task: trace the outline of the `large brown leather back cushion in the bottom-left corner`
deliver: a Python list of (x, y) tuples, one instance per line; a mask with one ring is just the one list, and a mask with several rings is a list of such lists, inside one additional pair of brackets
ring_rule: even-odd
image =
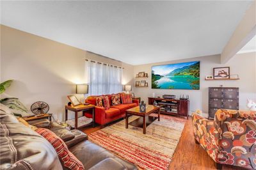
[(0, 120), (0, 169), (62, 169), (56, 151), (44, 137), (12, 114), (0, 111)]

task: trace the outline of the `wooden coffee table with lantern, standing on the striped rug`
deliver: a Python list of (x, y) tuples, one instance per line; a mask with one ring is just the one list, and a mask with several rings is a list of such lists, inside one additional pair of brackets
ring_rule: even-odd
[(141, 118), (138, 118), (132, 121), (131, 123), (129, 123), (129, 125), (143, 128), (143, 134), (146, 134), (146, 127), (150, 125), (154, 120), (157, 119), (154, 116), (149, 116), (149, 114), (157, 112), (158, 121), (160, 121), (160, 108), (161, 108), (160, 106), (147, 105), (146, 112), (140, 112), (140, 106), (136, 106), (126, 110), (125, 111), (125, 128), (128, 128), (128, 117), (130, 115), (140, 116)]

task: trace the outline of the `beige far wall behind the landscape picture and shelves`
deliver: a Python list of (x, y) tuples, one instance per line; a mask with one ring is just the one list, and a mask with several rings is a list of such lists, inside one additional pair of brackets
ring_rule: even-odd
[[(170, 63), (181, 63), (188, 61), (200, 61), (200, 90), (185, 90), (185, 89), (151, 89), (151, 67), (154, 65), (165, 65)], [(142, 100), (147, 101), (147, 97), (152, 97), (152, 93), (156, 96), (164, 94), (176, 95), (189, 95), (190, 98), (190, 111), (195, 109), (202, 109), (208, 112), (208, 87), (230, 86), (239, 87), (240, 89), (240, 108), (246, 109), (246, 99), (254, 98), (256, 100), (256, 53), (238, 54), (230, 59), (225, 65), (220, 64), (220, 55), (204, 56), (200, 58), (182, 59), (177, 61), (168, 61), (161, 63), (152, 63), (148, 65), (134, 66), (134, 77), (138, 72), (146, 72), (149, 77), (146, 79), (148, 88), (134, 88), (134, 93)], [(230, 74), (238, 74), (239, 81), (205, 81), (205, 75), (212, 75), (212, 68), (220, 66), (230, 66)], [(137, 80), (137, 79), (135, 79)], [(143, 80), (143, 79), (138, 79)], [(133, 84), (134, 86), (134, 84)]]

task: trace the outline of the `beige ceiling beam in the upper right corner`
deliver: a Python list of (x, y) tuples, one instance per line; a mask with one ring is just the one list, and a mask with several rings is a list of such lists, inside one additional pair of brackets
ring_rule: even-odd
[(256, 34), (256, 1), (244, 14), (236, 30), (221, 53), (221, 63), (226, 63), (230, 58), (248, 43)]

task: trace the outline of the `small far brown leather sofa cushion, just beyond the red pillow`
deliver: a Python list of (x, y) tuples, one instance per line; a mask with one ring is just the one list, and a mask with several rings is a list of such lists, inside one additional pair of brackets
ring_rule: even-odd
[(56, 122), (52, 122), (52, 127), (50, 129), (54, 134), (58, 135), (64, 142), (69, 141), (75, 137), (70, 130), (67, 130), (66, 128), (62, 127)]

